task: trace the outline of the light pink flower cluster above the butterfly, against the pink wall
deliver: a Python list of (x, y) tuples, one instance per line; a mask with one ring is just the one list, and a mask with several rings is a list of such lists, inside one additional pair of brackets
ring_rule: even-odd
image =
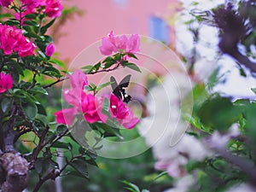
[(114, 36), (111, 31), (108, 38), (102, 38), (100, 50), (102, 55), (112, 55), (113, 52), (136, 53), (139, 47), (140, 38), (137, 34), (132, 34), (130, 38), (127, 38), (125, 35)]

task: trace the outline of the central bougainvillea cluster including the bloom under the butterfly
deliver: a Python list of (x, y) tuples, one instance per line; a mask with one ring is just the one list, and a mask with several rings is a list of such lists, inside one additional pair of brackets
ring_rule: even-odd
[[(71, 90), (64, 89), (63, 96), (67, 103), (73, 105), (73, 108), (62, 109), (55, 112), (56, 121), (59, 124), (73, 125), (75, 115), (82, 113), (84, 119), (89, 123), (102, 121), (106, 123), (108, 115), (102, 113), (102, 103), (104, 98), (97, 98), (92, 94), (84, 92), (84, 86), (88, 85), (87, 76), (77, 70), (73, 75), (69, 75)], [(127, 129), (133, 128), (139, 122), (139, 119), (133, 115), (131, 109), (123, 101), (119, 101), (117, 96), (110, 95), (110, 115), (116, 119), (119, 125)]]

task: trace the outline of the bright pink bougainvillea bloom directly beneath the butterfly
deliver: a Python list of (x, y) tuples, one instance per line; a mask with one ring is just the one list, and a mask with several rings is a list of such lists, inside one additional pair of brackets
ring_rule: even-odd
[(131, 111), (131, 108), (117, 96), (110, 95), (110, 115), (112, 118), (117, 119), (120, 125), (126, 129), (132, 129), (140, 121)]

